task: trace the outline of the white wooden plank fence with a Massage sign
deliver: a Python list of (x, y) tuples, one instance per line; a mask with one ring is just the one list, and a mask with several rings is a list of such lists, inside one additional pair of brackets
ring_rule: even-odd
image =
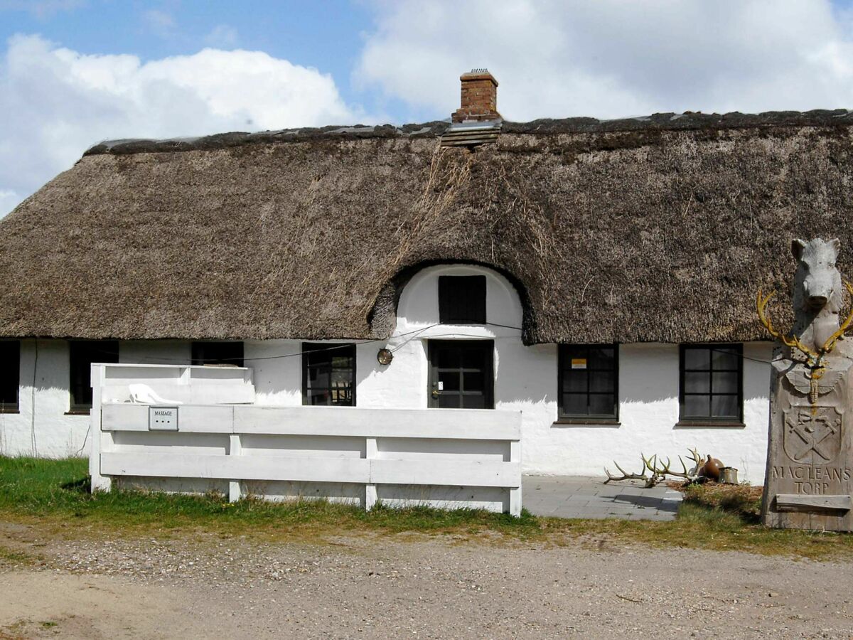
[[(251, 369), (95, 364), (92, 380), (93, 490), (116, 479), (221, 486), (232, 501), (316, 495), (367, 509), (381, 500), (521, 512), (519, 412), (233, 404), (252, 403)], [(192, 400), (171, 405), (176, 428), (126, 401), (134, 383)]]

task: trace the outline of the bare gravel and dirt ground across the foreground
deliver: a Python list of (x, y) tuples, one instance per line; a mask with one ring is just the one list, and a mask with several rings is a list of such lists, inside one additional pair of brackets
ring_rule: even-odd
[[(40, 538), (0, 524), (0, 638), (853, 637), (853, 563), (588, 540)], [(7, 554), (8, 555), (8, 554)]]

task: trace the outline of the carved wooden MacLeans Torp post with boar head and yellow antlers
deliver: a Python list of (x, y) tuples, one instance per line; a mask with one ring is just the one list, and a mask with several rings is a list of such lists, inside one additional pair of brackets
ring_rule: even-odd
[(838, 240), (795, 240), (794, 325), (776, 330), (757, 297), (758, 317), (777, 340), (771, 367), (770, 426), (762, 521), (769, 527), (853, 531), (850, 404), (853, 340), (840, 321), (844, 288)]

